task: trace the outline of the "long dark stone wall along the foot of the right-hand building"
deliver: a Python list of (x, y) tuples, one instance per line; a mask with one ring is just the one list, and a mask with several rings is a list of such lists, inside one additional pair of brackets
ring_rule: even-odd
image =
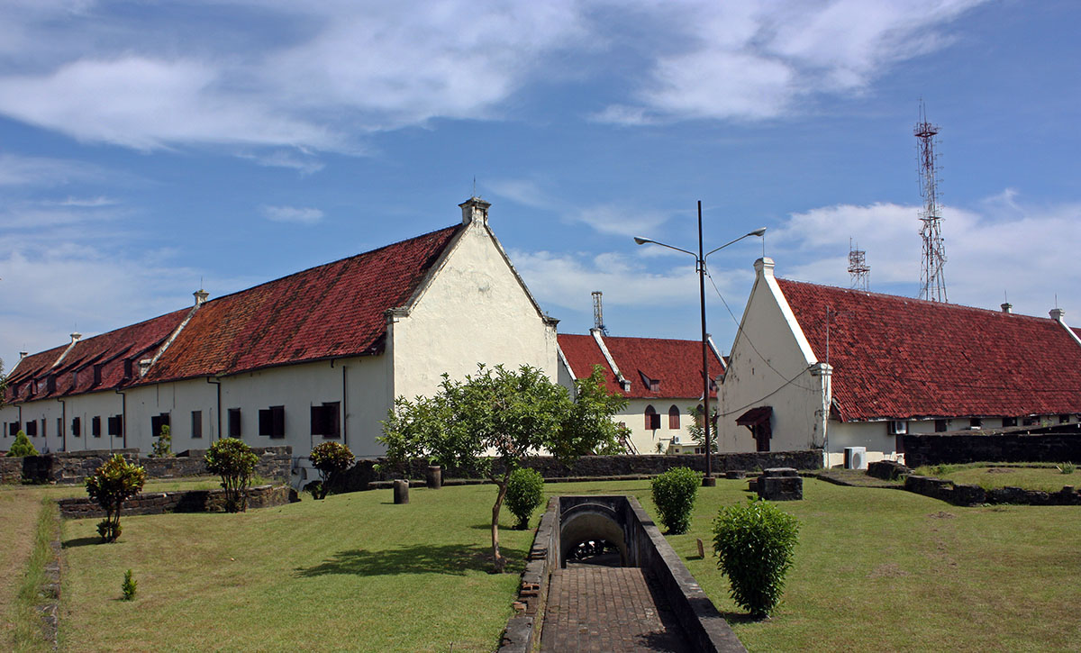
[(905, 463), (909, 467), (953, 463), (1081, 462), (1081, 434), (1042, 435), (908, 435)]

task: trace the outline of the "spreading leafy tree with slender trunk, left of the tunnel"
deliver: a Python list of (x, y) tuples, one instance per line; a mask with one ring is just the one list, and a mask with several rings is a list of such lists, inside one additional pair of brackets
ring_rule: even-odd
[(620, 427), (612, 415), (626, 400), (604, 390), (599, 368), (575, 382), (575, 395), (572, 401), (566, 388), (530, 365), (515, 372), (479, 364), (465, 381), (443, 374), (429, 398), (395, 400), (379, 442), (391, 464), (428, 458), (444, 468), (478, 469), (495, 483), (492, 559), (501, 572), (507, 561), (499, 554), (499, 510), (513, 470), (543, 450), (570, 462), (618, 447)]

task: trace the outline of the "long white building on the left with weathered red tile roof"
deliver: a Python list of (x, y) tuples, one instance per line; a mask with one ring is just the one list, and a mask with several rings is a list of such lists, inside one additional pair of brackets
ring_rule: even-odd
[[(25, 356), (0, 410), (39, 451), (138, 448), (162, 424), (173, 450), (223, 436), (290, 444), (298, 467), (337, 440), (376, 456), (395, 397), (430, 395), (444, 372), (530, 364), (557, 375), (545, 316), (489, 227), (462, 222), (146, 322)], [(303, 471), (295, 470), (297, 482)]]

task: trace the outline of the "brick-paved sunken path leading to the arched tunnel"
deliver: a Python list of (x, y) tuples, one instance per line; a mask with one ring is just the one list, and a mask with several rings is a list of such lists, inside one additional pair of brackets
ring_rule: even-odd
[(690, 651), (660, 592), (651, 590), (654, 585), (635, 568), (578, 564), (556, 570), (540, 650)]

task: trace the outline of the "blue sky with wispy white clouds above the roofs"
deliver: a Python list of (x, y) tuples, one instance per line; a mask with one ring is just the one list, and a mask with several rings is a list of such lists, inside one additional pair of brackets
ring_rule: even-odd
[[(955, 303), (1081, 324), (1081, 6), (1052, 0), (0, 4), (0, 358), (459, 219), (563, 332), (697, 337), (693, 261), (919, 292), (919, 102)], [(722, 349), (763, 244), (710, 258)], [(1057, 297), (1057, 298), (1056, 298)]]

